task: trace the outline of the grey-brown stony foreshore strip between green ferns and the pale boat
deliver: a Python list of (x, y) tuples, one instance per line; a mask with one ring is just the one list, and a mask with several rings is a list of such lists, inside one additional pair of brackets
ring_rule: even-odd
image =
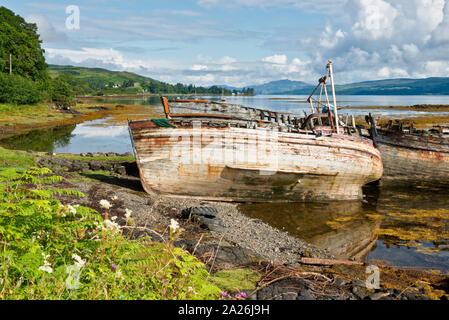
[[(237, 204), (153, 196), (141, 187), (136, 164), (129, 154), (62, 155), (33, 153), (39, 166), (64, 176), (67, 188), (86, 194), (67, 197), (65, 203), (100, 211), (99, 201), (109, 200), (112, 215), (121, 221), (132, 210), (136, 226), (125, 229), (130, 237), (150, 235), (165, 241), (171, 219), (184, 229), (176, 245), (196, 255), (211, 272), (251, 268), (260, 274), (253, 300), (447, 300), (449, 276), (437, 272), (378, 266), (379, 285), (368, 289), (367, 266), (303, 264), (304, 257), (330, 259), (326, 250), (243, 215)], [(189, 208), (213, 208), (189, 211)], [(324, 260), (323, 260), (324, 261)]]

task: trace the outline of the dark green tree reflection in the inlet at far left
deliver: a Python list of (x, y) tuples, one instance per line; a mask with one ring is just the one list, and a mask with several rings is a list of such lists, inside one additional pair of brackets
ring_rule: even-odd
[(70, 144), (74, 137), (75, 125), (32, 130), (26, 134), (0, 140), (0, 145), (8, 149), (53, 152)]

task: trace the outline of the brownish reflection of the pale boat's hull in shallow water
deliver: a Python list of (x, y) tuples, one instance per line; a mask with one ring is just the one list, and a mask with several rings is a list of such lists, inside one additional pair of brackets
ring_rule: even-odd
[(380, 219), (362, 202), (250, 204), (240, 209), (289, 234), (327, 249), (337, 258), (363, 260), (377, 241)]

